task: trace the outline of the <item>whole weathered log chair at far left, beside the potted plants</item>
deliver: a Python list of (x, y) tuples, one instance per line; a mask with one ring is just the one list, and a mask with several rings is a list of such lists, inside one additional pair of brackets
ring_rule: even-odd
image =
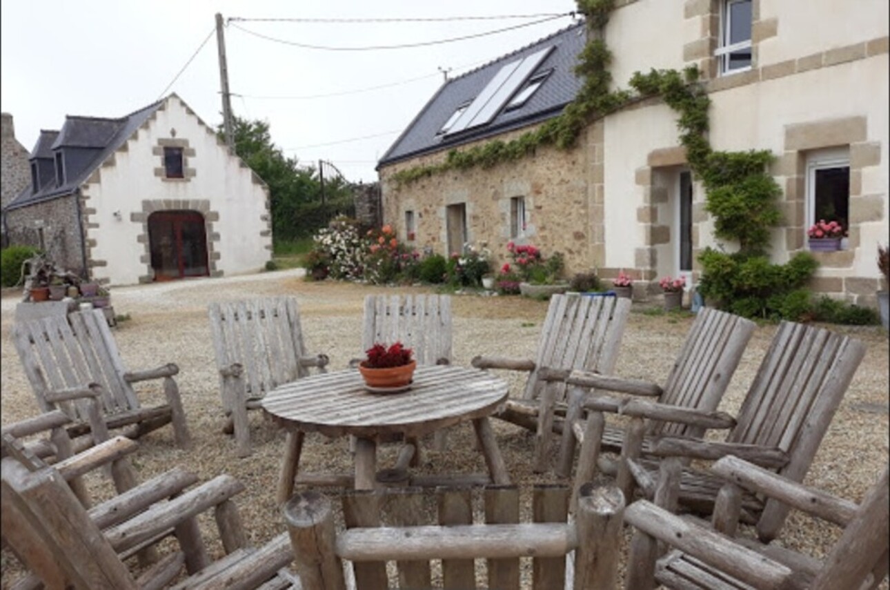
[[(101, 422), (109, 430), (126, 428), (138, 438), (165, 424), (172, 424), (174, 440), (181, 449), (191, 448), (185, 412), (174, 376), (179, 368), (167, 363), (159, 368), (127, 371), (117, 351), (108, 322), (101, 310), (77, 311), (63, 316), (17, 321), (12, 341), (41, 411), (61, 409), (75, 424), (69, 434), (89, 432), (96, 422), (91, 400), (99, 402)], [(166, 404), (142, 408), (133, 385), (161, 379)]]

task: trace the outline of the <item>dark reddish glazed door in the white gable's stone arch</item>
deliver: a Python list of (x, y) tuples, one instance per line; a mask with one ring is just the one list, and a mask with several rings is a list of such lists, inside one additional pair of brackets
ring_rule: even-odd
[(149, 247), (155, 280), (206, 277), (207, 238), (197, 211), (158, 211), (149, 215)]

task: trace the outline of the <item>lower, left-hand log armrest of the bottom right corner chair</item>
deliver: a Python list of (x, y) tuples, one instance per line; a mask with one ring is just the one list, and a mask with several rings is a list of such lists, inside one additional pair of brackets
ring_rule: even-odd
[(713, 529), (685, 521), (648, 500), (627, 506), (624, 520), (685, 554), (756, 588), (781, 588), (792, 571)]

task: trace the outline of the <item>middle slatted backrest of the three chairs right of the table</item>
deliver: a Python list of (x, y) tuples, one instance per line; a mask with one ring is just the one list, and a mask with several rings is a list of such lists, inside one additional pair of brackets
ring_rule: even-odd
[[(754, 322), (740, 316), (702, 309), (667, 376), (659, 402), (681, 408), (716, 410), (754, 334), (754, 327)], [(679, 423), (649, 424), (651, 435), (700, 437), (704, 430)]]

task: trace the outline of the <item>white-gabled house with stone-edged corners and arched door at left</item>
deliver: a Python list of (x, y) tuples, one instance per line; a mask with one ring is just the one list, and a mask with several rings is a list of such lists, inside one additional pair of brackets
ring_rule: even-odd
[(125, 117), (66, 117), (41, 131), (29, 165), (4, 200), (9, 241), (69, 271), (132, 285), (271, 259), (268, 189), (176, 94)]

